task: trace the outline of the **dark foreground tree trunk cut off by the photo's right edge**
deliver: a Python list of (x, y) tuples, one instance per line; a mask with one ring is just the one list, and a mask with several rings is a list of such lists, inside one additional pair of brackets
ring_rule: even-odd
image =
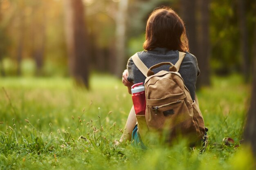
[(252, 99), (248, 111), (245, 125), (244, 137), (247, 144), (251, 144), (254, 156), (256, 157), (256, 24), (254, 26), (254, 46), (253, 46), (253, 73), (252, 73)]

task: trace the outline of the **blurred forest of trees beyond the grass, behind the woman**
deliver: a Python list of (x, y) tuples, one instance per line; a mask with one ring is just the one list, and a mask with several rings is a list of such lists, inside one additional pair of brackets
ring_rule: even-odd
[[(184, 20), (190, 52), (198, 58), (202, 74), (206, 74), (202, 79), (210, 74), (244, 73), (247, 81), (251, 73), (256, 30), (254, 0), (0, 3), (1, 77), (86, 75), (95, 71), (120, 77), (128, 58), (143, 50), (148, 15), (161, 6), (173, 8)], [(72, 49), (67, 48), (70, 46)], [(78, 53), (85, 62), (75, 62)], [(85, 71), (74, 73), (74, 67)]]

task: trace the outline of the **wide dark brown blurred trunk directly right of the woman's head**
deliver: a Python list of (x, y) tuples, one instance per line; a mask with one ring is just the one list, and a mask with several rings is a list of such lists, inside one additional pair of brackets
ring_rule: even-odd
[(189, 38), (190, 53), (198, 59), (197, 88), (210, 84), (209, 0), (181, 0), (182, 19)]

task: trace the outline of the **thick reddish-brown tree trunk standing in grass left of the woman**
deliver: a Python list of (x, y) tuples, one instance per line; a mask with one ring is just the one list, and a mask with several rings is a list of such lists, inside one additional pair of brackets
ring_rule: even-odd
[(82, 0), (65, 0), (67, 51), (71, 75), (88, 88), (88, 33)]

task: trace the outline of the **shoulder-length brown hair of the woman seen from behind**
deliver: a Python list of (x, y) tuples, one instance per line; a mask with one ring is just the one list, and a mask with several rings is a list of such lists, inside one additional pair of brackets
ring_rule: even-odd
[(155, 9), (146, 26), (145, 50), (163, 47), (169, 50), (189, 51), (184, 22), (175, 11), (168, 7)]

